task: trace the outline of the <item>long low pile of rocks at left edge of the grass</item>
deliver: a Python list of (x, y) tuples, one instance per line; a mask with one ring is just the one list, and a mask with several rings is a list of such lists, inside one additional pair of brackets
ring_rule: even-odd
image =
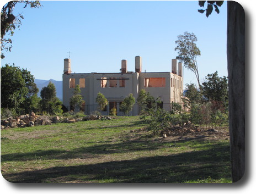
[(9, 128), (25, 128), (26, 126), (38, 126), (38, 125), (51, 125), (52, 123), (76, 123), (78, 121), (87, 121), (87, 120), (111, 120), (110, 117), (103, 117), (100, 115), (88, 115), (86, 117), (80, 118), (60, 118), (56, 117), (47, 117), (36, 115), (34, 112), (31, 114), (20, 115), (19, 117), (1, 120), (1, 130)]

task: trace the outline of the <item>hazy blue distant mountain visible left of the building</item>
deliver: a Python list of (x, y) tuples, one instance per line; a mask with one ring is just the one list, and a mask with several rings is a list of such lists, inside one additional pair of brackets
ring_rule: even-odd
[(38, 80), (35, 79), (35, 84), (39, 88), (38, 96), (40, 97), (40, 92), (43, 87), (46, 87), (49, 82), (52, 82), (52, 84), (56, 87), (56, 96), (62, 101), (62, 81), (56, 81), (56, 80)]

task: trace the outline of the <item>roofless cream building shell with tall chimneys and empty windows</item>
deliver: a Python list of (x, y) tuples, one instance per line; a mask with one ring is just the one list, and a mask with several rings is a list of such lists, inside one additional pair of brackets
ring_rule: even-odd
[[(91, 114), (97, 110), (95, 99), (99, 92), (108, 99), (109, 106), (102, 112), (109, 114), (112, 108), (116, 108), (117, 114), (122, 115), (119, 105), (130, 93), (137, 98), (138, 92), (142, 89), (161, 99), (159, 104), (163, 109), (170, 110), (171, 103), (182, 103), (183, 95), (183, 67), (177, 59), (172, 59), (172, 72), (151, 72), (143, 73), (142, 59), (135, 57), (135, 72), (127, 72), (126, 60), (121, 61), (120, 73), (72, 73), (71, 60), (64, 59), (63, 80), (63, 104), (70, 107), (70, 98), (76, 85), (81, 89), (84, 101), (82, 110), (86, 114)], [(138, 106), (135, 104), (130, 115), (138, 115)]]

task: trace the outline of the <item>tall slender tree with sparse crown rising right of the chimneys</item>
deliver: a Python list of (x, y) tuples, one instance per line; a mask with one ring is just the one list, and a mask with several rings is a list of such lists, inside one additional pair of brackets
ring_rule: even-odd
[(175, 51), (178, 51), (178, 56), (176, 58), (183, 62), (186, 69), (191, 70), (195, 74), (198, 86), (201, 90), (197, 61), (197, 57), (201, 55), (201, 52), (196, 46), (196, 41), (198, 41), (198, 38), (194, 33), (185, 31), (184, 35), (179, 35), (178, 40), (175, 41), (177, 45)]

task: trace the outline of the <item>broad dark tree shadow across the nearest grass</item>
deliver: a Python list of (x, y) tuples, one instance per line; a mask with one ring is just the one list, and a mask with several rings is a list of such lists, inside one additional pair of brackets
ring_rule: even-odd
[(3, 174), (10, 182), (184, 182), (231, 179), (227, 145), (204, 151)]

